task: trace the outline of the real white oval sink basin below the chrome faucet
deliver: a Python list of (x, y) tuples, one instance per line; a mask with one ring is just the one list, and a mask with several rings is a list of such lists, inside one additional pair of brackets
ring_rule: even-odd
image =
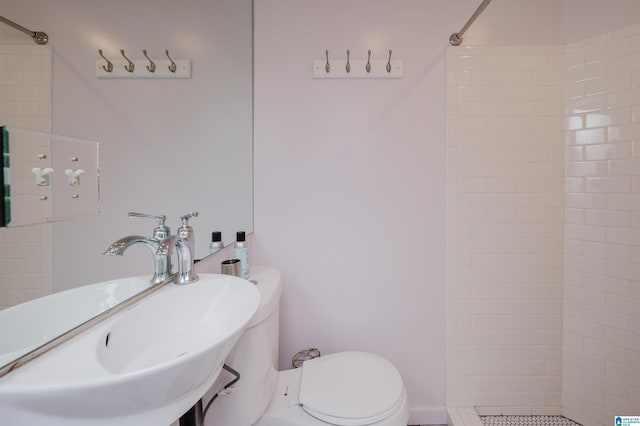
[(249, 281), (169, 284), (0, 378), (12, 426), (165, 426), (211, 387), (257, 310)]

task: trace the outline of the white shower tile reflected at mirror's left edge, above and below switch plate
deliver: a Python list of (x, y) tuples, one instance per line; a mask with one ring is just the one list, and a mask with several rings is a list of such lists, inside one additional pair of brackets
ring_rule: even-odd
[[(0, 45), (0, 125), (51, 130), (51, 48)], [(51, 293), (51, 225), (0, 228), (0, 309)]]

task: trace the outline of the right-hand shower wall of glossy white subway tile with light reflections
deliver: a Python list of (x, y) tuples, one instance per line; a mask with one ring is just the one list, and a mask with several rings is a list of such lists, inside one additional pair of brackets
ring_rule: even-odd
[(609, 425), (640, 413), (640, 25), (566, 62), (563, 409)]

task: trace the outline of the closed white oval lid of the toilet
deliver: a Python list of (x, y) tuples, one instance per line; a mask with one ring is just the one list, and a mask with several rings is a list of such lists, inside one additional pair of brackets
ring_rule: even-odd
[(302, 365), (299, 402), (334, 425), (366, 425), (392, 415), (404, 397), (398, 370), (364, 352), (341, 352)]

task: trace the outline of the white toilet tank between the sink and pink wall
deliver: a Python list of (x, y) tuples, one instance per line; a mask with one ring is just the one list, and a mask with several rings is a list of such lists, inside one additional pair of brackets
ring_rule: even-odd
[[(280, 271), (251, 267), (251, 280), (260, 290), (260, 305), (225, 364), (240, 373), (228, 395), (220, 395), (205, 416), (205, 426), (250, 426), (265, 412), (278, 379), (279, 307), (282, 294)], [(218, 392), (233, 376), (220, 374), (212, 390)], [(206, 395), (207, 404), (211, 395)]]

